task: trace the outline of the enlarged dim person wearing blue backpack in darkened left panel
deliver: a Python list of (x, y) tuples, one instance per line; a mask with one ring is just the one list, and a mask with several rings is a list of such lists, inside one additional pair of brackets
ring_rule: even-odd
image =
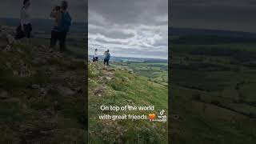
[(61, 10), (58, 10), (58, 6), (54, 7), (54, 10), (50, 13), (50, 18), (55, 18), (56, 26), (51, 31), (50, 48), (53, 48), (57, 42), (59, 42), (60, 52), (66, 50), (66, 35), (70, 31), (71, 20), (69, 12), (67, 11), (68, 3), (62, 1)]

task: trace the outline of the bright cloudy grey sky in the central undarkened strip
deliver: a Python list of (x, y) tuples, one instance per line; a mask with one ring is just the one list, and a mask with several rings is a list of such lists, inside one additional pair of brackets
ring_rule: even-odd
[(89, 0), (89, 54), (167, 58), (168, 0)]

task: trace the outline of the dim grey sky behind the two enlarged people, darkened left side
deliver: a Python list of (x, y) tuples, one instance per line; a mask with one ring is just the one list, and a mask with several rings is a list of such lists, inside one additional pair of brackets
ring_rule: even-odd
[[(87, 0), (67, 0), (69, 11), (74, 21), (85, 22), (86, 1)], [(19, 18), (23, 0), (1, 0), (0, 18)], [(56, 5), (60, 5), (61, 0), (30, 0), (30, 13), (32, 18), (49, 18), (50, 11)]]

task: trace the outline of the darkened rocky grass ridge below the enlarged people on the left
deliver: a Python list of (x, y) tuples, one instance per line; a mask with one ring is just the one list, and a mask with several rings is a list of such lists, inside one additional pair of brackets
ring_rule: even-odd
[(85, 62), (0, 27), (0, 143), (85, 142)]

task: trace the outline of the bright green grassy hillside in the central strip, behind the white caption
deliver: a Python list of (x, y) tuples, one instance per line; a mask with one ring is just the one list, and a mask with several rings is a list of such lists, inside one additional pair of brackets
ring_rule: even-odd
[[(90, 70), (98, 70), (94, 64)], [(106, 82), (106, 90), (101, 97), (94, 94), (102, 82), (98, 81), (98, 76), (104, 76), (104, 72), (97, 77), (89, 72), (89, 126), (90, 143), (166, 143), (167, 123), (149, 122), (148, 120), (99, 120), (99, 114), (123, 114), (118, 111), (99, 110), (99, 106), (155, 106), (154, 113), (159, 110), (168, 110), (167, 86), (162, 86), (155, 82), (148, 81), (148, 78), (138, 74), (130, 74), (126, 70), (114, 71), (114, 78)], [(127, 80), (128, 79), (128, 80)], [(104, 82), (103, 82), (104, 83)], [(146, 114), (148, 112), (127, 111), (126, 114)], [(155, 128), (153, 127), (156, 124)]]

